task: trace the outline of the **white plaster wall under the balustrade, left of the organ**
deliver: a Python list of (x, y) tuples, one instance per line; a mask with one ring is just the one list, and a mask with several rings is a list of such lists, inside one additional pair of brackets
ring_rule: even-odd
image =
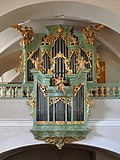
[(21, 99), (0, 100), (0, 120), (32, 120), (31, 107)]

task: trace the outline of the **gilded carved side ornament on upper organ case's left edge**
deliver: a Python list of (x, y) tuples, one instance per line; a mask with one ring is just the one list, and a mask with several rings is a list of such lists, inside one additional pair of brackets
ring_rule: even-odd
[(24, 63), (24, 57), (23, 54), (19, 56), (19, 66), (16, 67), (14, 70), (18, 73), (20, 73), (21, 78), (23, 79), (24, 69), (23, 69), (23, 63)]

